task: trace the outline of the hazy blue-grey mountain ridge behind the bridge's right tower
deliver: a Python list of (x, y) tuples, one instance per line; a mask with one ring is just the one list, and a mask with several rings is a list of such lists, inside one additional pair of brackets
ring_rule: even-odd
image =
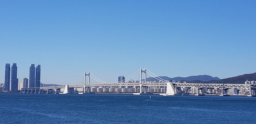
[(160, 78), (164, 79), (164, 80), (168, 80), (168, 81), (175, 80), (175, 81), (201, 81), (201, 82), (203, 81), (203, 82), (207, 82), (207, 81), (213, 81), (213, 80), (220, 80), (218, 77), (212, 77), (212, 76), (209, 76), (209, 75), (197, 75), (197, 76), (190, 76), (190, 77), (174, 77), (174, 78), (170, 78), (170, 77), (167, 77), (167, 76), (159, 76), (159, 77), (155, 77), (155, 78), (154, 77), (148, 77), (146, 80), (147, 81), (159, 81)]

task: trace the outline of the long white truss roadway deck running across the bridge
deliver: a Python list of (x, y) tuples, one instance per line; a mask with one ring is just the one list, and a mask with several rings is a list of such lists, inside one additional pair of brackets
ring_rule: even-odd
[[(252, 90), (256, 90), (256, 84), (202, 84), (202, 83), (171, 83), (172, 86), (175, 88), (174, 91), (177, 91), (177, 87), (194, 87), (197, 90), (202, 90), (202, 88), (218, 88), (222, 90), (221, 95), (223, 95), (223, 91), (226, 91), (230, 88), (236, 89), (250, 89), (250, 96), (252, 96)], [(86, 84), (86, 85), (60, 85), (54, 87), (33, 87), (33, 88), (24, 88), (21, 92), (29, 91), (29, 90), (50, 90), (54, 89), (64, 89), (66, 86), (68, 88), (80, 88), (80, 87), (118, 87), (118, 86), (140, 86), (140, 87), (152, 87), (152, 86), (167, 86), (167, 83), (102, 83), (102, 84)], [(197, 92), (199, 93), (199, 91)], [(249, 95), (248, 95), (249, 96)]]

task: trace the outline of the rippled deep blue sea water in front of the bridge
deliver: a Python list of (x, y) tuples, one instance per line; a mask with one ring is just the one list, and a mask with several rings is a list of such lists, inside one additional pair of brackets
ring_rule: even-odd
[[(49, 97), (51, 96), (51, 97)], [(256, 98), (0, 93), (2, 124), (256, 123)]]

